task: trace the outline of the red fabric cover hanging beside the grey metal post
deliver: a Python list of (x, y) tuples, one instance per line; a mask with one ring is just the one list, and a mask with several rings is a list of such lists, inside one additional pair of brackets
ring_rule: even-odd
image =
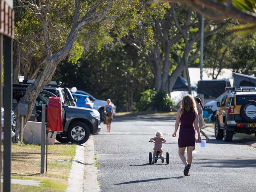
[(62, 132), (61, 98), (50, 97), (47, 104), (49, 131)]

